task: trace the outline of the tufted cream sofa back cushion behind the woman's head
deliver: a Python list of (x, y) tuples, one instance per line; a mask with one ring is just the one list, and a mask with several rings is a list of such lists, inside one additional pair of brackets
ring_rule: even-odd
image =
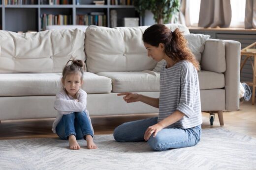
[[(181, 24), (166, 26), (189, 33), (189, 29)], [(152, 70), (157, 62), (147, 57), (142, 41), (142, 34), (148, 27), (89, 26), (85, 32), (87, 70), (92, 73)]]

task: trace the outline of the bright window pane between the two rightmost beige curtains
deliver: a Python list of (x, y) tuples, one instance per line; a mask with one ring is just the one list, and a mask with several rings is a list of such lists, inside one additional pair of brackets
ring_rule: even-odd
[(245, 27), (245, 0), (230, 0), (231, 3), (231, 23), (230, 27)]

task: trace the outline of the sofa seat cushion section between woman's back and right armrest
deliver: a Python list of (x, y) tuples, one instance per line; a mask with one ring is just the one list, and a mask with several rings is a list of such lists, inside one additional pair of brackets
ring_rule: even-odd
[(200, 90), (220, 89), (225, 86), (224, 73), (201, 70), (198, 72)]

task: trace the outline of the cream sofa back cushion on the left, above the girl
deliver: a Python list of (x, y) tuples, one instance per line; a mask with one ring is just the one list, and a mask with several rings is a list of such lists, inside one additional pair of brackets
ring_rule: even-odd
[(47, 30), (18, 34), (0, 30), (0, 73), (61, 73), (73, 56), (85, 61), (85, 33)]

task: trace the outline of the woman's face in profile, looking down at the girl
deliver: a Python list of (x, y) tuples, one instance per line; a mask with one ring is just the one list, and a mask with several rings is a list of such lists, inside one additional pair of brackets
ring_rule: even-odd
[(157, 62), (161, 61), (164, 57), (164, 46), (162, 43), (158, 47), (151, 46), (150, 44), (144, 43), (145, 48), (148, 51), (148, 56), (152, 57)]

